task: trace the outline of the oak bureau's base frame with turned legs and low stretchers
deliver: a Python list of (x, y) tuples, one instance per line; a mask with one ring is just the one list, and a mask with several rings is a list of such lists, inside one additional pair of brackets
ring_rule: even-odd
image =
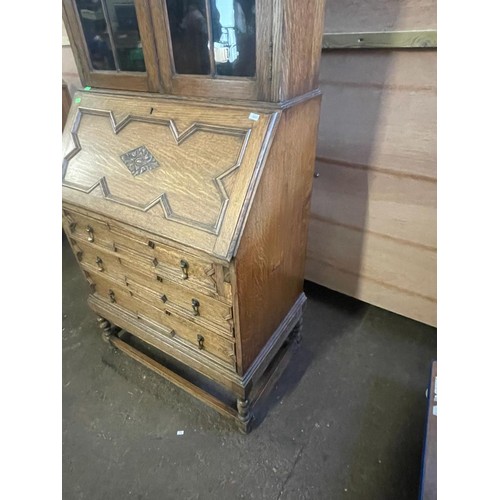
[[(101, 328), (105, 329), (103, 338), (111, 346), (135, 359), (191, 396), (201, 400), (221, 415), (232, 419), (238, 429), (246, 434), (252, 429), (255, 406), (259, 400), (262, 400), (272, 390), (288, 366), (288, 362), (300, 342), (304, 301), (305, 296), (302, 294), (289, 315), (276, 330), (275, 335), (270, 339), (269, 345), (263, 350), (265, 355), (256, 360), (258, 363), (252, 365), (246, 376), (234, 376), (234, 381), (237, 382), (239, 390), (229, 391), (233, 396), (231, 402), (216, 397), (177, 373), (167, 364), (158, 362), (143, 350), (132, 345), (133, 342), (126, 340), (127, 337), (134, 338), (130, 332), (112, 327), (110, 322), (102, 316), (99, 316), (98, 321)], [(204, 386), (207, 385), (206, 382), (207, 380), (205, 380)]]

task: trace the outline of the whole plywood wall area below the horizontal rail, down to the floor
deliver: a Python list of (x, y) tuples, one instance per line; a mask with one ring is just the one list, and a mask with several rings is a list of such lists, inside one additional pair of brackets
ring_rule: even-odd
[(323, 52), (306, 278), (436, 324), (436, 52)]

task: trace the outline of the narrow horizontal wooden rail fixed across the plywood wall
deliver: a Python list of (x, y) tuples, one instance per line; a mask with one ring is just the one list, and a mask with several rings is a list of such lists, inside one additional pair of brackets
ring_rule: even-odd
[(323, 50), (333, 49), (435, 49), (436, 30), (325, 33)]

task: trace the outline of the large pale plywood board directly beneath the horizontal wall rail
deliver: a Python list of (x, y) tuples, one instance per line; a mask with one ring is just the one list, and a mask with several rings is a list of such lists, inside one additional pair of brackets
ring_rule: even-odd
[(435, 53), (323, 53), (317, 155), (435, 178), (435, 63)]

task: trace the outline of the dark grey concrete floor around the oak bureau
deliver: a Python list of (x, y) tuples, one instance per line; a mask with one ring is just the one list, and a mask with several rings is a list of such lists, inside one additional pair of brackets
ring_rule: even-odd
[(63, 238), (63, 498), (416, 499), (436, 330), (306, 294), (303, 342), (245, 436), (101, 341)]

